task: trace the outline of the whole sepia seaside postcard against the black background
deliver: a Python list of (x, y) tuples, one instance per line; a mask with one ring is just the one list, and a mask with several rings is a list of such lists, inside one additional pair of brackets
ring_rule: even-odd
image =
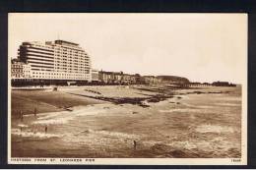
[(247, 15), (9, 13), (8, 163), (247, 164)]

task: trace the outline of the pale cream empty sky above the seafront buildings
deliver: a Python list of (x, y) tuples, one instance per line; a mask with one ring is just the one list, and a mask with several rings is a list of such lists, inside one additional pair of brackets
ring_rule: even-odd
[(8, 55), (24, 41), (79, 43), (97, 70), (242, 84), (247, 15), (170, 13), (12, 13)]

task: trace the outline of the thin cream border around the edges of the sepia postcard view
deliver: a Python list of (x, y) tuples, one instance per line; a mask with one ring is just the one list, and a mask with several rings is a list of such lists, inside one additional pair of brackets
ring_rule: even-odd
[[(14, 14), (14, 13), (12, 13)], [(116, 14), (116, 13), (115, 13)], [(172, 13), (175, 14), (175, 13)], [(188, 13), (186, 13), (188, 14)], [(196, 13), (193, 13), (196, 14)], [(213, 14), (213, 13), (211, 13)], [(221, 14), (221, 13), (219, 13)], [(248, 15), (247, 30), (248, 30)], [(8, 14), (8, 17), (10, 13)], [(8, 23), (9, 27), (9, 23)], [(8, 29), (9, 31), (9, 29)], [(248, 31), (247, 31), (248, 32)], [(8, 33), (9, 34), (9, 33)], [(248, 39), (248, 33), (247, 33)], [(246, 40), (246, 46), (247, 40)], [(8, 54), (10, 42), (8, 41)], [(248, 50), (246, 51), (248, 56)], [(8, 56), (8, 164), (62, 164), (62, 165), (247, 165), (247, 70), (246, 81), (242, 85), (242, 117), (241, 117), (241, 158), (19, 158), (11, 157), (11, 57)], [(67, 161), (68, 160), (68, 161)], [(78, 161), (75, 161), (78, 160)]]

